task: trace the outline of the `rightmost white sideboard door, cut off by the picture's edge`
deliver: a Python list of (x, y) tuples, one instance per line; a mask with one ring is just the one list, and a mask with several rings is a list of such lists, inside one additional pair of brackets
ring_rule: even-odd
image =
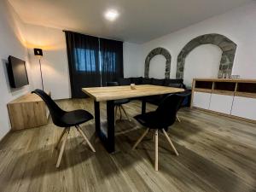
[(235, 96), (231, 114), (256, 120), (256, 99)]

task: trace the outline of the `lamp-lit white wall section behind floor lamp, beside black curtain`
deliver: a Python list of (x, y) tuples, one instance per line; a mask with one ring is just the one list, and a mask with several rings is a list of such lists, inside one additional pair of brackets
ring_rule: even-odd
[(65, 33), (59, 29), (25, 25), (26, 46), (32, 66), (34, 88), (42, 89), (38, 57), (34, 48), (43, 49), (41, 59), (44, 90), (50, 91), (54, 99), (70, 98), (70, 81), (67, 63)]

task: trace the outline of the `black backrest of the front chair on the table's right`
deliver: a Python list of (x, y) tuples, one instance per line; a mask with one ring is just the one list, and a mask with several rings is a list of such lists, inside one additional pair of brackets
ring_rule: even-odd
[(155, 110), (160, 127), (168, 127), (176, 120), (177, 110), (182, 104), (184, 96), (170, 94), (166, 96)]

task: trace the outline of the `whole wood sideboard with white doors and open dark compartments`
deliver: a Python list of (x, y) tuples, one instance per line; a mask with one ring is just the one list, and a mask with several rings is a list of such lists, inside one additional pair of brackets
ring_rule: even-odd
[(256, 123), (256, 79), (193, 79), (191, 107)]

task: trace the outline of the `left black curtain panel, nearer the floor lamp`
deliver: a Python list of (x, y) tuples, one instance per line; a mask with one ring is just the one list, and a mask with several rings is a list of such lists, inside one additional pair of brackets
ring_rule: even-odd
[(101, 86), (99, 38), (67, 32), (67, 57), (73, 98), (85, 97), (83, 87)]

